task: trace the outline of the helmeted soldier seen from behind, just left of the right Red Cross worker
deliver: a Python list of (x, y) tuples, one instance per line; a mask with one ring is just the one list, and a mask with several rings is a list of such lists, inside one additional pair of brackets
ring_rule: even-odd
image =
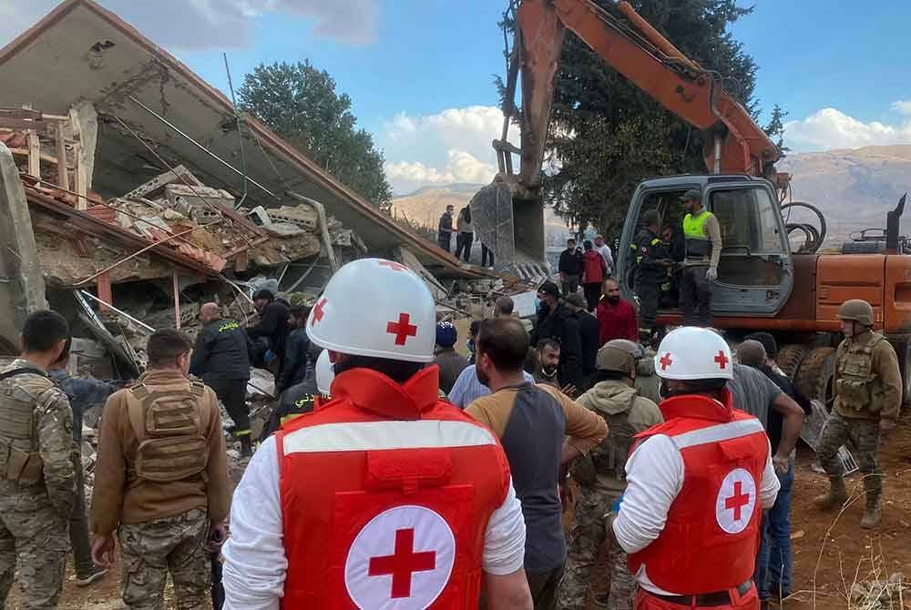
[[(637, 361), (642, 351), (623, 339), (608, 341), (598, 352), (595, 386), (582, 394), (578, 404), (598, 413), (608, 423), (608, 437), (589, 455), (577, 458), (572, 467), (578, 483), (576, 523), (569, 531), (566, 572), (560, 585), (559, 607), (583, 610), (592, 582), (591, 569), (607, 538), (604, 513), (626, 489), (624, 466), (633, 437), (663, 421), (658, 405), (642, 398), (635, 389)], [(636, 581), (627, 557), (618, 544), (608, 552), (610, 570), (609, 610), (631, 610)], [(602, 580), (602, 579), (598, 579)]]

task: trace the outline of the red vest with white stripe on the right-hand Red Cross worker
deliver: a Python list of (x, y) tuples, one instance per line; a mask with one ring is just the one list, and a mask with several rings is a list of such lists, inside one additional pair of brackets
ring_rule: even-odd
[(664, 591), (724, 591), (752, 577), (769, 440), (759, 420), (732, 409), (726, 393), (724, 405), (696, 395), (661, 402), (666, 422), (639, 435), (642, 441), (669, 436), (683, 459), (683, 485), (664, 530), (630, 554), (630, 571), (639, 574), (644, 567)]

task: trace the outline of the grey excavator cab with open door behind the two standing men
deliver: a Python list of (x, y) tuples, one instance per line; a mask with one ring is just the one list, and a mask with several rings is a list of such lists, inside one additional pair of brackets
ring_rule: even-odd
[(670, 281), (662, 290), (662, 310), (678, 313), (682, 270), (682, 224), (686, 211), (680, 201), (687, 190), (702, 194), (703, 205), (719, 221), (722, 254), (712, 297), (715, 315), (773, 317), (793, 289), (793, 261), (775, 189), (763, 178), (748, 176), (677, 176), (640, 183), (633, 193), (620, 238), (617, 272), (627, 298), (633, 296), (636, 236), (642, 216), (657, 209), (664, 239), (674, 259)]

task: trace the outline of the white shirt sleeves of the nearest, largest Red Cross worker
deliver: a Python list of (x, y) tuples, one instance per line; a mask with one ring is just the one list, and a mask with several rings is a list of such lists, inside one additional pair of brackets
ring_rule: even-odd
[[(253, 454), (234, 492), (222, 583), (225, 610), (278, 610), (288, 559), (281, 543), (281, 494), (275, 438)], [(482, 568), (512, 574), (525, 561), (525, 520), (512, 482), (487, 523)]]

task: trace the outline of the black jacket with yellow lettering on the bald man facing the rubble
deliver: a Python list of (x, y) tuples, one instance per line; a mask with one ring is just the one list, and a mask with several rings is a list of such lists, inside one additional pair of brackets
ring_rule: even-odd
[(189, 370), (202, 381), (249, 380), (247, 333), (233, 320), (212, 320), (196, 336)]

